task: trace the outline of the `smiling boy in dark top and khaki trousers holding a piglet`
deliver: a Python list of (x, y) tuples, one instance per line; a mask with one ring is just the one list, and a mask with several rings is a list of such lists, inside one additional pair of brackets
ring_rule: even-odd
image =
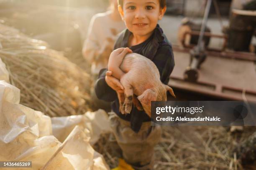
[[(118, 0), (118, 10), (127, 27), (115, 43), (115, 55), (123, 57), (136, 52), (154, 62), (159, 69), (161, 82), (167, 84), (174, 68), (172, 46), (157, 24), (166, 11), (166, 0)], [(117, 52), (118, 51), (118, 52)], [(116, 92), (123, 92), (119, 80), (112, 72), (100, 71), (95, 84), (99, 99), (114, 101), (110, 124), (124, 160), (136, 170), (153, 169), (154, 146), (161, 138), (161, 128), (151, 126), (151, 118), (136, 107), (128, 115), (119, 112)], [(150, 80), (148, 80), (150, 81)]]

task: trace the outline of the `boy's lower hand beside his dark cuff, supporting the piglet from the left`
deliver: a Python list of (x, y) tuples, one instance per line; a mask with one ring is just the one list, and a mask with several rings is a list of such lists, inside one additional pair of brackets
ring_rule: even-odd
[(105, 80), (108, 86), (119, 93), (124, 93), (123, 85), (120, 83), (120, 81), (117, 78), (113, 77), (112, 74), (113, 74), (112, 71), (106, 72)]

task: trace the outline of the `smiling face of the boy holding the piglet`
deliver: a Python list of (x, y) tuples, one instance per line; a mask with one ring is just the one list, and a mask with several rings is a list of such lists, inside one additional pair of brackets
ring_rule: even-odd
[(123, 0), (123, 7), (118, 7), (125, 25), (134, 35), (150, 34), (161, 20), (166, 7), (160, 8), (159, 0)]

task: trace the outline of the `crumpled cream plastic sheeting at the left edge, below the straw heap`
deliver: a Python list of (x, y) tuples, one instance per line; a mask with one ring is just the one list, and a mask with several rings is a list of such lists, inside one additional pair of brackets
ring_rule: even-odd
[(20, 90), (0, 81), (0, 160), (32, 161), (33, 169), (38, 169), (61, 143), (50, 136), (50, 117), (18, 104), (19, 101)]

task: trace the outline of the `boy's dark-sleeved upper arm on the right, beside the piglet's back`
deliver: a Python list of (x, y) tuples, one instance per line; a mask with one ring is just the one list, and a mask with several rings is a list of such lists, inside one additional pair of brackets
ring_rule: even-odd
[(172, 46), (163, 45), (160, 47), (159, 50), (157, 50), (153, 62), (160, 72), (161, 82), (167, 85), (175, 65)]

